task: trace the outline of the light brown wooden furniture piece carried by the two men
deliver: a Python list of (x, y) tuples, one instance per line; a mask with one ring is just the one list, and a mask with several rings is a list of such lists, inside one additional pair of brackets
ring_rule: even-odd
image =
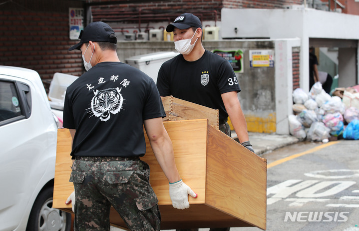
[[(150, 183), (159, 200), (161, 229), (258, 227), (266, 229), (267, 162), (214, 129), (207, 119), (164, 122), (183, 181), (198, 194), (189, 197), (190, 208), (172, 207), (169, 186), (146, 137), (147, 151), (141, 159), (150, 165)], [(71, 136), (59, 129), (53, 207), (71, 212), (65, 205), (73, 191), (69, 182), (72, 161)], [(125, 224), (112, 208), (111, 225)]]

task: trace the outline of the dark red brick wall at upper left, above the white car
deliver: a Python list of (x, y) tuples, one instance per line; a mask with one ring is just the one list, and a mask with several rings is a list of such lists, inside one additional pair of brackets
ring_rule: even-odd
[(0, 65), (37, 71), (44, 82), (55, 72), (79, 76), (83, 73), (79, 52), (67, 49), (68, 7), (82, 7), (78, 1), (8, 1), (0, 9)]

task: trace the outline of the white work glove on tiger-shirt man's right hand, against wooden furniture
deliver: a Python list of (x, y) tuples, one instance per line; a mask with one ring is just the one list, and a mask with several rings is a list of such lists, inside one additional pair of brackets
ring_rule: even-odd
[(180, 210), (189, 208), (188, 194), (193, 198), (196, 198), (197, 194), (183, 183), (182, 179), (169, 185), (172, 206)]

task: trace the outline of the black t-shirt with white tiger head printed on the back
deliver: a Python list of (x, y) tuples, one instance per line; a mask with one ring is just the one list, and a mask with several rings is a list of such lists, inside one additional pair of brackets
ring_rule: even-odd
[(143, 156), (143, 121), (165, 117), (154, 81), (121, 62), (101, 62), (66, 90), (63, 127), (76, 129), (71, 156)]

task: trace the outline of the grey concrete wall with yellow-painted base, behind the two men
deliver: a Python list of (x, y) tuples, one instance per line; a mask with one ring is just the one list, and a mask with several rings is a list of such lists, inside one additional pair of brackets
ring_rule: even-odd
[[(173, 42), (118, 41), (120, 60), (158, 51), (175, 51)], [(241, 39), (203, 41), (207, 50), (243, 51), (243, 73), (236, 73), (242, 91), (238, 94), (248, 131), (289, 134), (292, 111), (293, 47), (299, 39)], [(251, 67), (250, 50), (273, 50), (274, 67)]]

